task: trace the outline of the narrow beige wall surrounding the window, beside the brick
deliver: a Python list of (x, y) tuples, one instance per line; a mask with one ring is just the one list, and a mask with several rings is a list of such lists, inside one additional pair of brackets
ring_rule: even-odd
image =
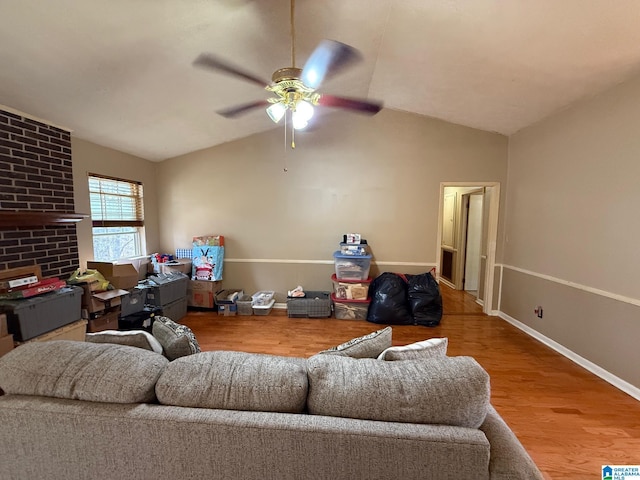
[[(73, 152), (73, 186), (76, 212), (91, 212), (89, 185), (87, 182), (89, 173), (140, 181), (144, 188), (144, 221), (147, 251), (158, 251), (157, 164), (75, 137), (71, 138), (71, 149)], [(79, 222), (77, 232), (80, 266), (84, 268), (87, 260), (93, 259), (91, 219)]]

